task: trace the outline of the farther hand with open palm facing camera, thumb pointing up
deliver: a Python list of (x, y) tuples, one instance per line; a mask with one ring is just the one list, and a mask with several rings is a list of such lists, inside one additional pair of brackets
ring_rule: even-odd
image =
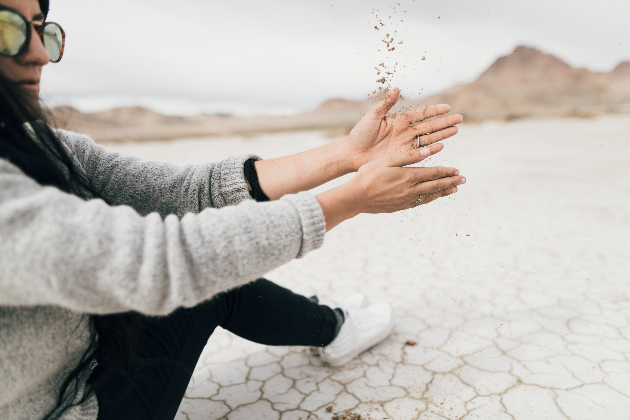
[(417, 135), (421, 136), (422, 147), (457, 134), (455, 125), (464, 120), (459, 114), (418, 124), (427, 118), (449, 113), (449, 105), (427, 105), (406, 113), (386, 116), (399, 96), (399, 89), (394, 88), (379, 105), (365, 113), (348, 138), (343, 140), (353, 171), (358, 171), (362, 165), (379, 157), (416, 149)]

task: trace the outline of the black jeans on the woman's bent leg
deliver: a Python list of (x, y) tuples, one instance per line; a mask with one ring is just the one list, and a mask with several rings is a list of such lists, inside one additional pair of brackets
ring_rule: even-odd
[[(164, 358), (139, 368), (129, 389), (128, 378), (113, 377), (96, 393), (99, 420), (172, 420), (193, 369), (215, 327), (221, 326), (256, 343), (270, 346), (326, 346), (336, 332), (333, 309), (318, 305), (263, 278), (220, 293), (192, 309), (166, 317), (142, 317), (141, 358)], [(105, 357), (90, 377), (103, 373)]]

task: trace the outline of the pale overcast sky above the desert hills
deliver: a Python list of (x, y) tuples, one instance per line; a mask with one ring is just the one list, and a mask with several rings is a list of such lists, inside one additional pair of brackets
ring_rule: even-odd
[(520, 44), (593, 71), (630, 60), (628, 0), (50, 3), (67, 39), (42, 97), (83, 111), (289, 114), (365, 98), (381, 62), (398, 62), (393, 84), (415, 99), (473, 81)]

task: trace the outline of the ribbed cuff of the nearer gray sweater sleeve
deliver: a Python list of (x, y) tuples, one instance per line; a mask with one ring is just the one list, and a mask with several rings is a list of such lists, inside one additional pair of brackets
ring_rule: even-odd
[(280, 200), (289, 201), (297, 209), (302, 222), (302, 247), (296, 258), (302, 258), (309, 251), (318, 249), (324, 243), (326, 222), (319, 201), (314, 195), (302, 192), (288, 194)]

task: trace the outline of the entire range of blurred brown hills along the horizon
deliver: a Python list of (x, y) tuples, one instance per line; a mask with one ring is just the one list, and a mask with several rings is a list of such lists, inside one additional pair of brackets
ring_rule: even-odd
[[(427, 103), (448, 103), (466, 122), (630, 112), (630, 62), (621, 62), (609, 73), (592, 72), (520, 46), (497, 59), (476, 81), (453, 86), (418, 105)], [(345, 99), (329, 99), (316, 110), (299, 115), (249, 118), (165, 116), (140, 107), (86, 114), (57, 106), (50, 110), (50, 121), (55, 127), (87, 133), (100, 142), (309, 129), (344, 135), (365, 110), (365, 102)]]

